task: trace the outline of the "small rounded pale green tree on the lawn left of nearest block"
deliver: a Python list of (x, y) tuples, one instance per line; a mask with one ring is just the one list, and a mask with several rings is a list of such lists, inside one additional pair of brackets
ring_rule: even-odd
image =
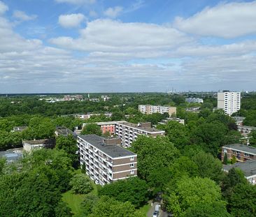
[(75, 174), (69, 184), (71, 191), (76, 194), (87, 194), (93, 189), (92, 182), (86, 174)]

